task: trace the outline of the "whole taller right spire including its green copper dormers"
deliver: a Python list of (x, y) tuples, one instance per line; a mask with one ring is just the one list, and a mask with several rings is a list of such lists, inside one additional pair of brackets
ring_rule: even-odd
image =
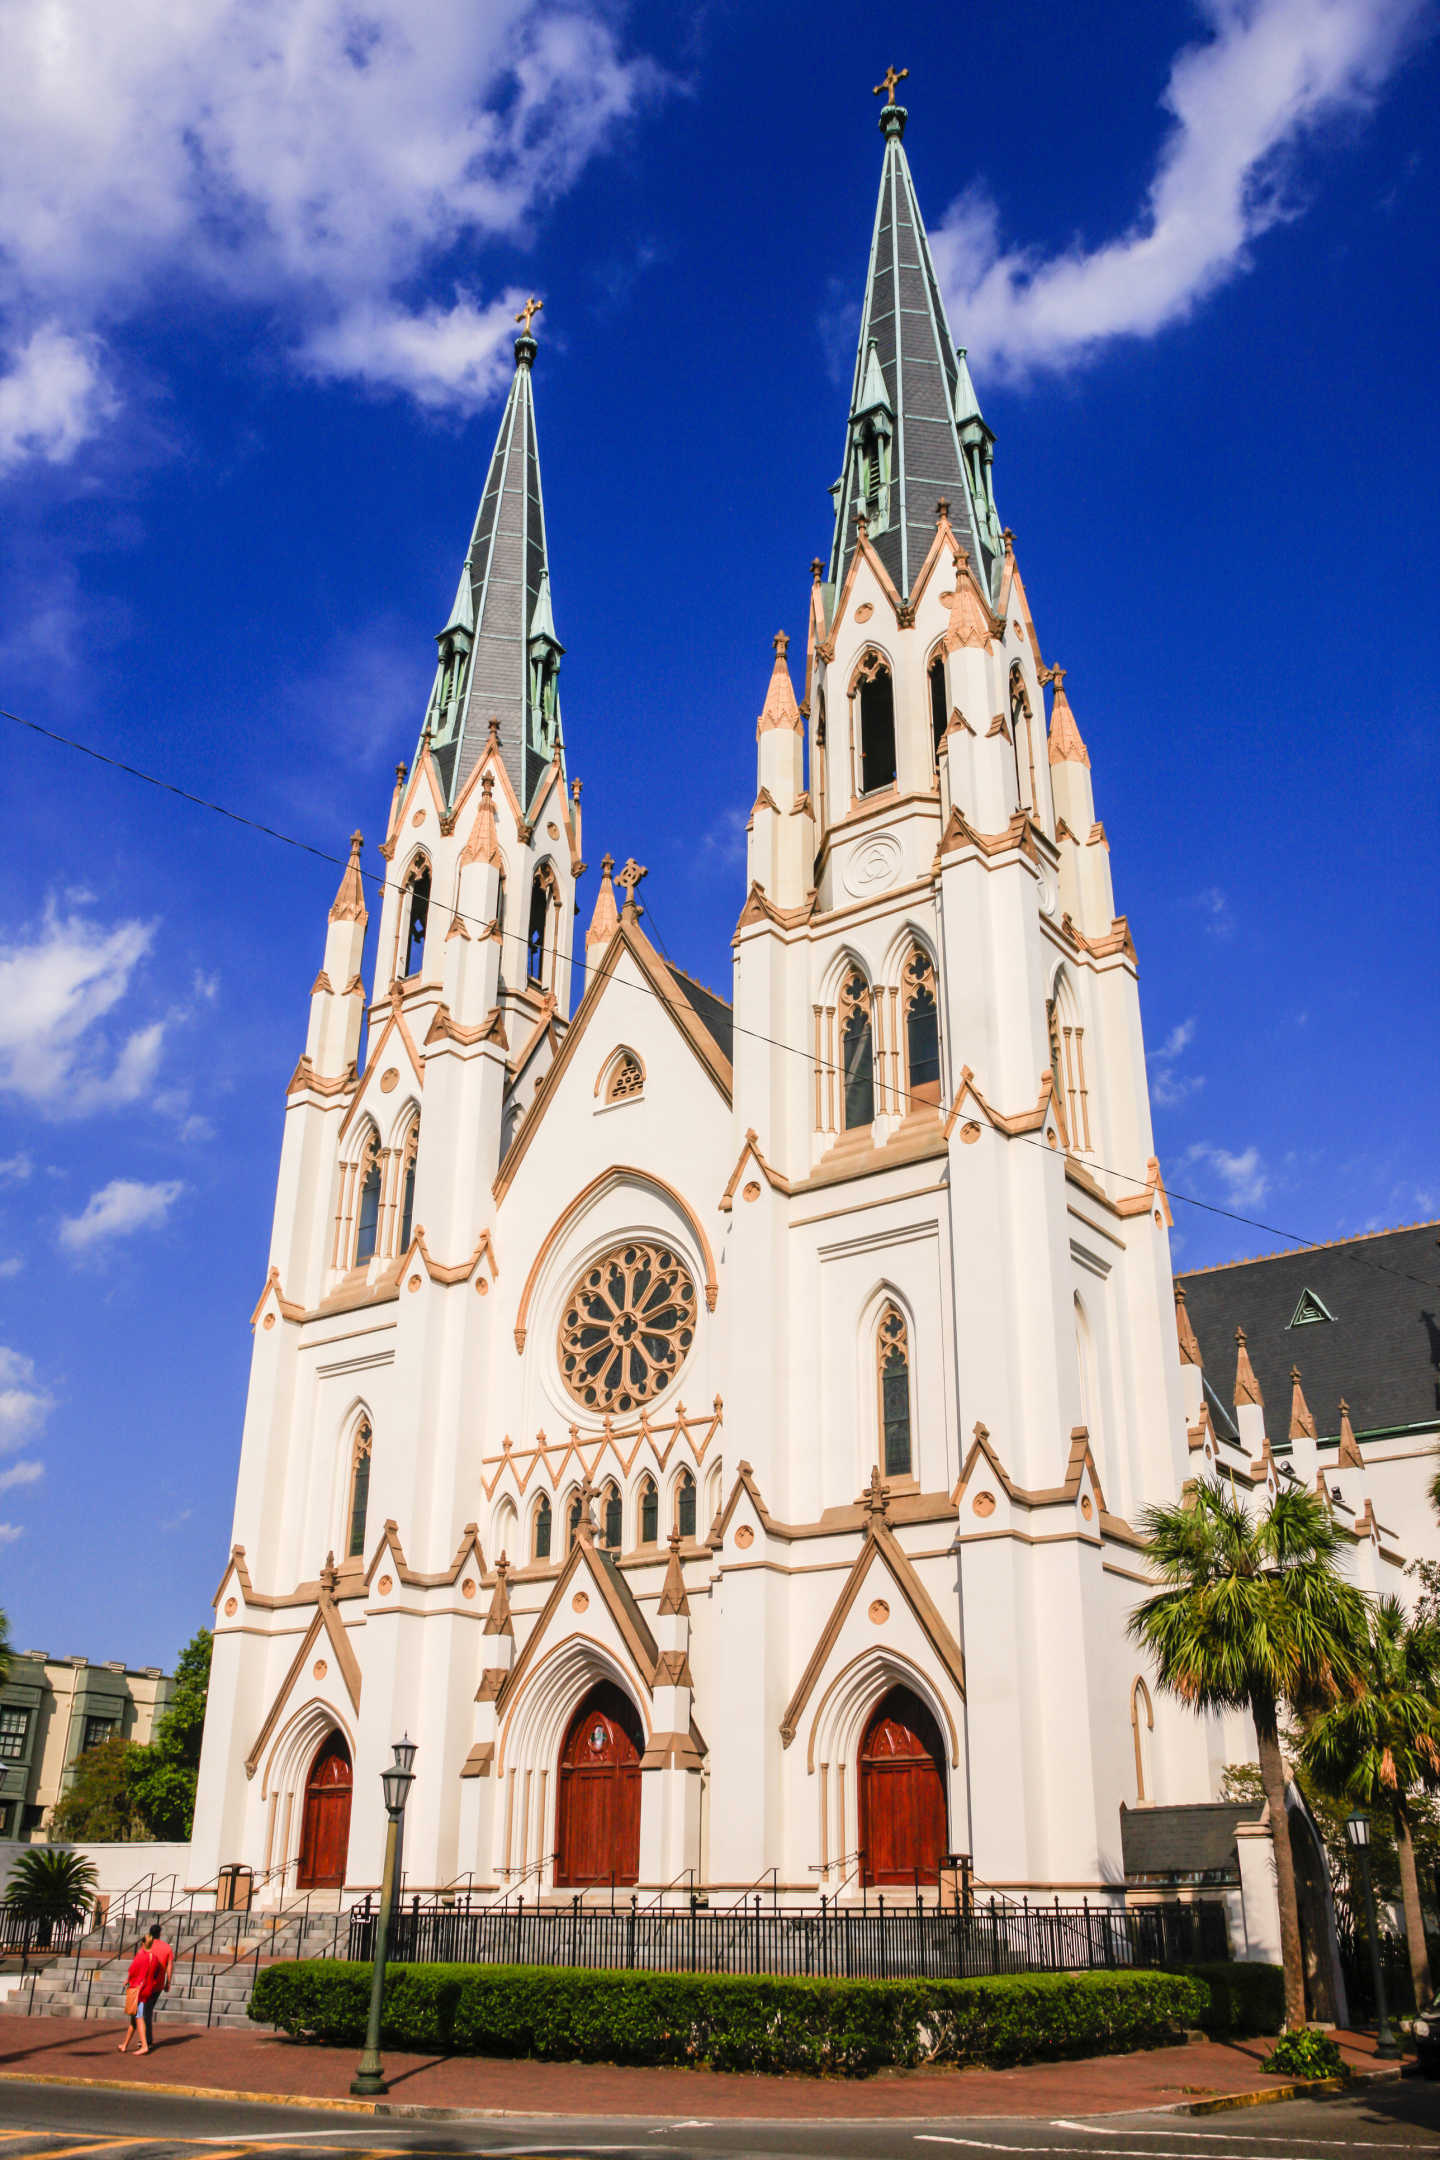
[[(894, 86), (892, 86), (894, 89)], [(935, 540), (935, 503), (950, 501), (950, 523), (993, 594), (1004, 555), (991, 497), (995, 436), (980, 417), (969, 367), (956, 356), (946, 302), (905, 156), (905, 106), (881, 112), (885, 164), (870, 240), (866, 305), (859, 318), (855, 389), (844, 471), (833, 486), (836, 538), (831, 583), (855, 551), (855, 518), (902, 598)]]

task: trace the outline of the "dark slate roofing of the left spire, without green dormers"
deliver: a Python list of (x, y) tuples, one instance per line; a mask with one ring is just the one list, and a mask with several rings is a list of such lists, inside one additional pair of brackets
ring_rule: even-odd
[[(548, 581), (533, 356), (535, 341), (518, 337), (516, 372), (464, 557), (473, 659), (460, 726), (449, 741), (434, 743), (451, 801), (479, 762), (492, 717), (501, 724), (501, 756), (522, 808), (529, 808), (551, 756), (531, 741), (529, 708), (529, 635), (540, 588)], [(456, 600), (460, 607), (462, 596)]]

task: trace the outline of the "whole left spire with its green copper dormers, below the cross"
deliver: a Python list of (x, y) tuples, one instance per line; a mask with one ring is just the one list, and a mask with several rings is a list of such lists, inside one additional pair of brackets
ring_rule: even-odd
[(516, 337), (516, 372), (456, 605), (436, 639), (440, 659), (425, 726), (451, 801), (486, 747), (490, 719), (499, 719), (501, 756), (525, 808), (561, 750), (557, 676), (566, 648), (555, 635), (551, 607), (535, 445), (535, 307), (516, 318), (525, 322)]

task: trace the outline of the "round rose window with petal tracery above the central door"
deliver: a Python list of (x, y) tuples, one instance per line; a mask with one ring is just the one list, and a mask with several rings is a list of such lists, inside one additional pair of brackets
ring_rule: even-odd
[(587, 1410), (637, 1410), (663, 1395), (695, 1341), (695, 1283), (667, 1244), (615, 1246), (559, 1315), (559, 1372)]

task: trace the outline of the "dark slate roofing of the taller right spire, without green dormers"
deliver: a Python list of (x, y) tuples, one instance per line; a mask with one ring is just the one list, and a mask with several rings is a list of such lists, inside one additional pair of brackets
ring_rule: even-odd
[[(935, 540), (935, 503), (950, 503), (950, 525), (969, 549), (978, 575), (993, 581), (991, 555), (980, 544), (961, 436), (954, 417), (959, 363), (946, 322), (946, 302), (930, 259), (915, 184), (905, 158), (905, 110), (887, 106), (881, 114), (885, 132), (885, 164), (881, 197), (874, 210), (870, 242), (870, 274), (859, 320), (855, 354), (855, 389), (851, 391), (851, 426), (861, 413), (866, 359), (874, 354), (885, 378), (887, 406), (894, 426), (892, 449), (892, 514), (883, 529), (870, 527), (870, 542), (894, 579), (900, 598), (911, 585)], [(868, 404), (864, 406), (868, 410)], [(855, 553), (857, 458), (846, 430), (844, 471), (836, 499), (836, 538), (829, 579), (844, 579)]]

